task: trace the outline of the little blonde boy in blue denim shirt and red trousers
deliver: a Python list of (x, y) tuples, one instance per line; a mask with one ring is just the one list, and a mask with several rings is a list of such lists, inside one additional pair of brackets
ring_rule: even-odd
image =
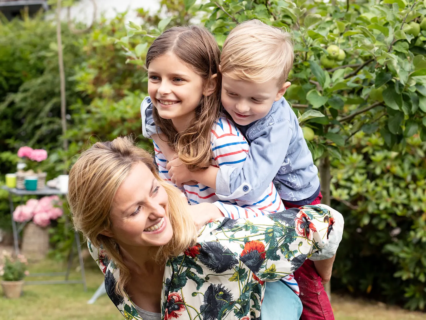
[[(290, 86), (286, 80), (293, 60), (293, 44), (288, 32), (259, 20), (239, 23), (230, 32), (222, 48), (221, 99), (225, 111), (250, 143), (247, 158), (239, 168), (222, 165), (220, 169), (210, 166), (190, 172), (179, 159), (172, 160), (173, 152), (167, 154), (166, 151), (167, 169), (173, 183), (199, 181), (215, 188), (216, 195), (226, 201), (259, 197), (258, 193), (272, 180), (286, 208), (320, 203), (317, 167), (297, 117), (282, 97)], [(156, 135), (152, 111), (146, 109), (141, 113), (144, 136), (151, 135), (164, 153), (167, 143)], [(333, 260), (334, 257), (314, 262), (325, 282), (331, 275)], [(301, 319), (334, 319), (314, 263), (307, 260), (295, 272), (304, 306)], [(267, 310), (263, 311), (262, 308), (265, 319)]]

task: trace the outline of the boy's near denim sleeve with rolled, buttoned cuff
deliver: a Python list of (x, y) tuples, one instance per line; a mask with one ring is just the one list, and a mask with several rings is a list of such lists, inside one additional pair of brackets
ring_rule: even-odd
[(259, 131), (253, 137), (242, 166), (220, 167), (216, 176), (216, 195), (221, 200), (259, 198), (281, 168), (291, 137), (288, 120)]

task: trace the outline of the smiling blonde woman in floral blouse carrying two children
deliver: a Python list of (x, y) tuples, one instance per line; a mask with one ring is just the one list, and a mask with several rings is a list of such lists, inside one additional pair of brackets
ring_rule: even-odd
[[(128, 137), (83, 152), (69, 173), (68, 199), (127, 319), (257, 318), (265, 282), (336, 245), (343, 228), (326, 206), (238, 220), (213, 204), (190, 206)], [(193, 216), (214, 221), (197, 231)]]

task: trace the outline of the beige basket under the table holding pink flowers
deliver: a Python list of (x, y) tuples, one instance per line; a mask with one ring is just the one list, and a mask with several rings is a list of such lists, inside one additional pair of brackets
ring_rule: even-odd
[(40, 261), (46, 258), (49, 251), (49, 231), (46, 227), (39, 227), (29, 222), (23, 231), (22, 253), (31, 261)]

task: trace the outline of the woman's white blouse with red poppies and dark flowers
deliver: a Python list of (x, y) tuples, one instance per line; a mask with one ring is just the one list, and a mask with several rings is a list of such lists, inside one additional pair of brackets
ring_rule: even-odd
[[(333, 216), (340, 215), (332, 210)], [(294, 272), (306, 258), (340, 239), (330, 211), (292, 208), (256, 218), (221, 218), (205, 225), (195, 246), (167, 260), (161, 292), (164, 320), (259, 319), (265, 282)], [(331, 232), (333, 230), (334, 232)], [(337, 232), (335, 232), (337, 231)], [(107, 294), (127, 320), (142, 319), (129, 297), (115, 293), (119, 270), (88, 242), (105, 275)]]

